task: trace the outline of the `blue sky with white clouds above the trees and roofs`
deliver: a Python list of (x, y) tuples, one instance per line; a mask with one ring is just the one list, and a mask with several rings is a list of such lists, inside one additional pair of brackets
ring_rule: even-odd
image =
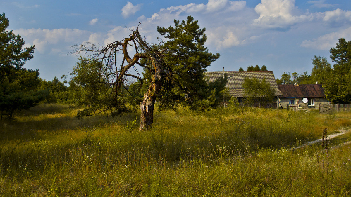
[(27, 69), (39, 69), (52, 80), (72, 71), (78, 56), (72, 46), (86, 42), (104, 46), (135, 29), (157, 43), (157, 26), (192, 15), (206, 28), (206, 47), (220, 58), (208, 71), (238, 71), (240, 67), (285, 72), (311, 72), (314, 55), (330, 61), (329, 50), (339, 38), (351, 40), (350, 0), (0, 0), (0, 13), (13, 30), (35, 45)]

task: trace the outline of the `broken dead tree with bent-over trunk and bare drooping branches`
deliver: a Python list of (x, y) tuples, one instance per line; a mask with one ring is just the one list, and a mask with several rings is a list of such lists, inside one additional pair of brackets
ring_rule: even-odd
[[(124, 38), (121, 41), (112, 42), (102, 49), (96, 47), (93, 43), (87, 43), (87, 45), (74, 45), (74, 54), (81, 52), (87, 53), (91, 60), (102, 63), (100, 68), (100, 74), (104, 77), (104, 85), (110, 87), (113, 94), (111, 97), (111, 106), (107, 106), (106, 109), (111, 108), (118, 104), (119, 92), (124, 87), (124, 84), (130, 79), (130, 77), (137, 79), (143, 83), (143, 79), (138, 73), (138, 69), (135, 66), (143, 67), (147, 69), (151, 75), (150, 85), (144, 99), (140, 103), (140, 127), (139, 130), (145, 130), (152, 126), (153, 123), (153, 111), (157, 94), (162, 87), (162, 73), (166, 68), (166, 64), (163, 60), (163, 51), (158, 51), (156, 45), (147, 43), (144, 38), (139, 34), (138, 28), (132, 30), (129, 38)], [(133, 57), (129, 54), (134, 53)], [(122, 54), (122, 61), (118, 62), (118, 55)], [(146, 59), (148, 64), (141, 64), (139, 61)], [(133, 69), (137, 72), (136, 75), (131, 74), (130, 70)]]

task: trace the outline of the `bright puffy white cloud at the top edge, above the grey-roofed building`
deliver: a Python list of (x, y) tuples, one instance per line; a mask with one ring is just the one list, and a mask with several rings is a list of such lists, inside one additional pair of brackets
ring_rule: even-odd
[(262, 0), (255, 7), (259, 18), (254, 20), (259, 26), (268, 28), (287, 28), (297, 22), (311, 19), (312, 16), (295, 15), (295, 0)]

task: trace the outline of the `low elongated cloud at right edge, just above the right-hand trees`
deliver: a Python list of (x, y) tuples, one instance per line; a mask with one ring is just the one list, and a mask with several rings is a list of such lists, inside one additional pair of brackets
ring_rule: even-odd
[(305, 40), (301, 43), (300, 46), (319, 50), (327, 50), (331, 47), (335, 47), (339, 38), (345, 38), (346, 40), (350, 40), (351, 27), (339, 30), (338, 32), (333, 32), (319, 36), (317, 39), (313, 39), (313, 41)]

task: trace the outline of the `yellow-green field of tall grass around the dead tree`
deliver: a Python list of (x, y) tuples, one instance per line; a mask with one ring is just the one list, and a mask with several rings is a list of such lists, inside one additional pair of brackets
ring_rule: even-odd
[[(0, 196), (350, 196), (351, 114), (226, 108), (78, 119), (40, 105), (0, 122)], [(135, 119), (135, 117), (137, 117)]]

